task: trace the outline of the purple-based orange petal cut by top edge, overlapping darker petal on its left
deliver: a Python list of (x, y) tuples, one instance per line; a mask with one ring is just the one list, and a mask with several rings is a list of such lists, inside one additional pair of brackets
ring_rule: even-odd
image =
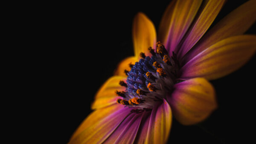
[(172, 55), (192, 23), (202, 0), (177, 0), (172, 13), (166, 49)]

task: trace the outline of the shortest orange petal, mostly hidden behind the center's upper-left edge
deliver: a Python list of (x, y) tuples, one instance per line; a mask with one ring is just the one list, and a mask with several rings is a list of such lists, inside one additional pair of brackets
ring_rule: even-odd
[(138, 58), (136, 58), (136, 57), (125, 58), (118, 64), (118, 66), (114, 72), (114, 75), (126, 76), (125, 69), (130, 71), (131, 70), (130, 64), (134, 64), (137, 61), (138, 61)]

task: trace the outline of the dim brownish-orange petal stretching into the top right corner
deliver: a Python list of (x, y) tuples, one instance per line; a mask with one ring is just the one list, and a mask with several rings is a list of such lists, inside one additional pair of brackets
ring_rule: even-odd
[(207, 49), (214, 43), (227, 37), (241, 35), (256, 20), (256, 0), (249, 0), (218, 22), (201, 40), (184, 56), (182, 65)]

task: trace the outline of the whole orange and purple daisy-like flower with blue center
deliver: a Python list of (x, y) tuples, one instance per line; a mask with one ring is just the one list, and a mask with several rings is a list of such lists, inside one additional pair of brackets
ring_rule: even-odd
[(95, 111), (70, 143), (165, 143), (172, 115), (184, 125), (207, 118), (217, 108), (207, 80), (235, 71), (256, 50), (256, 36), (242, 35), (256, 19), (255, 1), (244, 3), (207, 32), (223, 5), (172, 1), (157, 39), (152, 22), (137, 14), (135, 56), (123, 60), (99, 89)]

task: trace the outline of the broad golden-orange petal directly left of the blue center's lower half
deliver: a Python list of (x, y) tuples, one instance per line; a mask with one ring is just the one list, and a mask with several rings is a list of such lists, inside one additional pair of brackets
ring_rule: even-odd
[(116, 95), (116, 90), (120, 92), (125, 90), (124, 86), (119, 85), (120, 81), (126, 82), (126, 77), (113, 76), (109, 78), (96, 93), (95, 100), (92, 104), (92, 109), (99, 109), (111, 104), (115, 104), (116, 100), (121, 98)]

